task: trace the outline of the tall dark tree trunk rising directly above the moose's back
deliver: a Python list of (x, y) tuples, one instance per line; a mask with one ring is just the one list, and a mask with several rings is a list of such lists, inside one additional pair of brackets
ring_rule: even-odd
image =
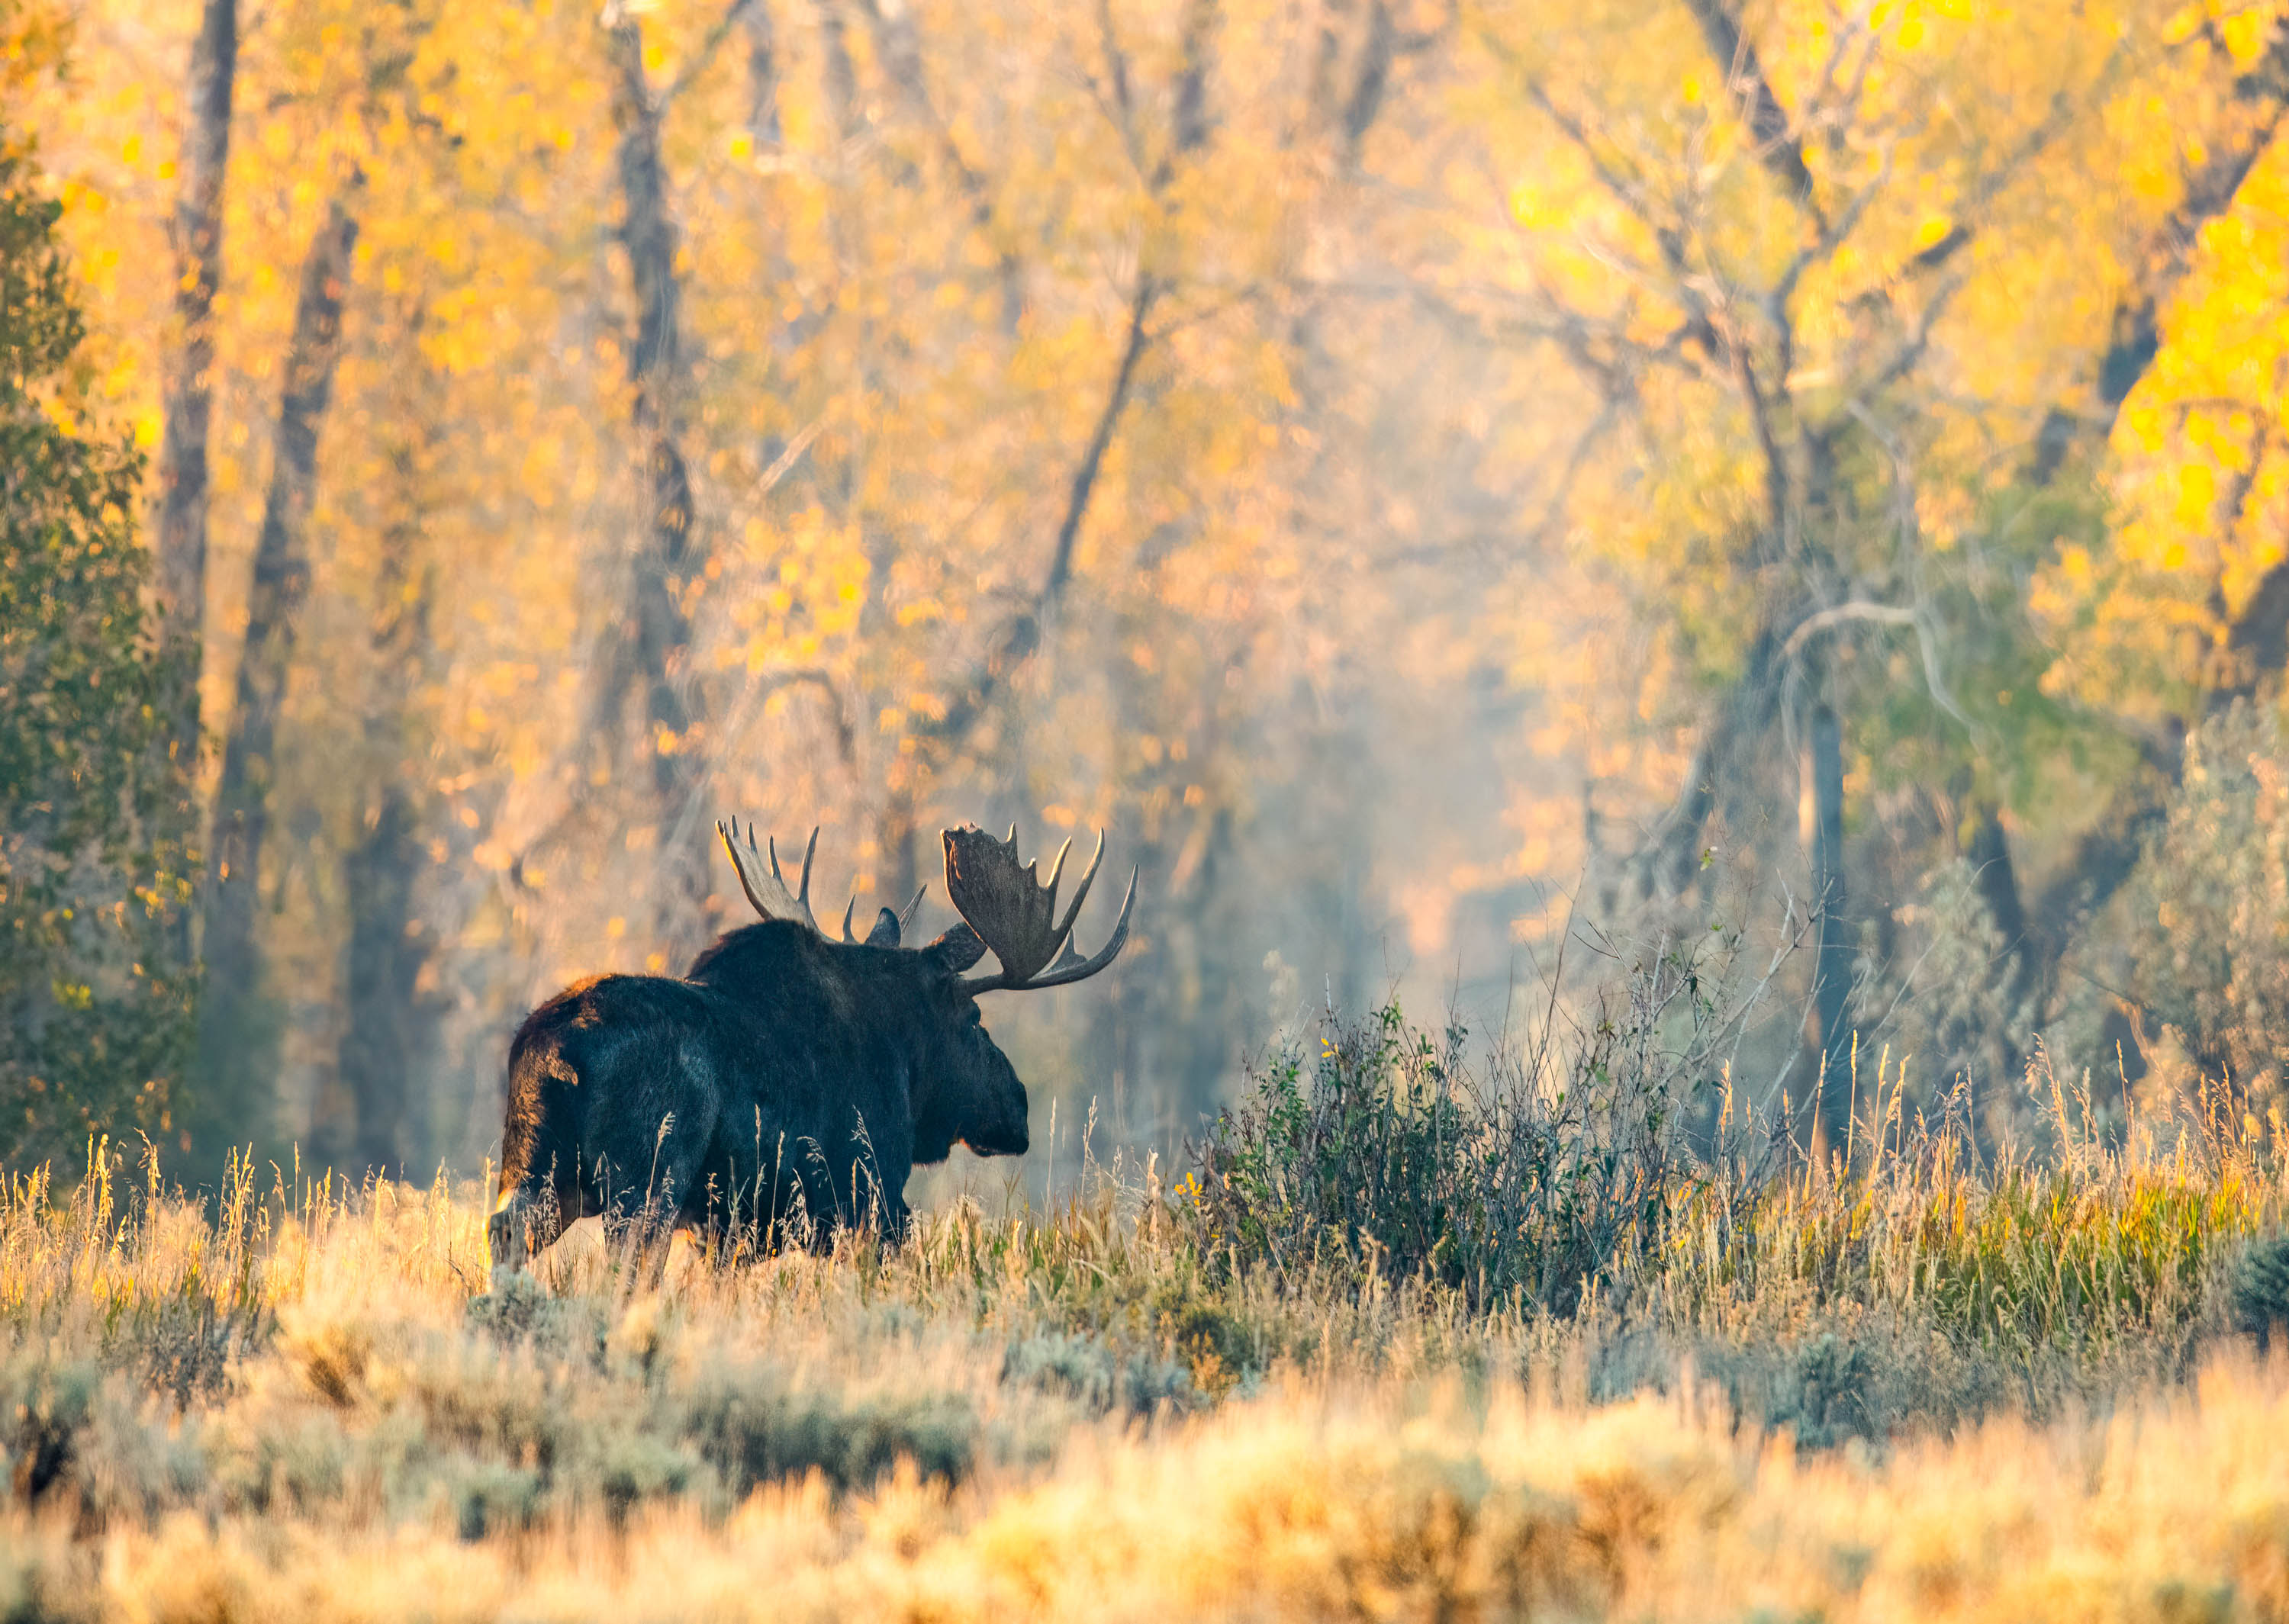
[(652, 764), (659, 817), (659, 862), (666, 885), (655, 897), (655, 940), (671, 947), (700, 917), (705, 865), (682, 839), (698, 789), (698, 741), (689, 682), (691, 618), (684, 590), (703, 558), (691, 531), (691, 473), (678, 437), (682, 400), (682, 284), (675, 274), (675, 222), (659, 156), (662, 108), (643, 80), (643, 30), (625, 21), (607, 34), (611, 119), (620, 133), (620, 245), (636, 297), (636, 343), (627, 373), (634, 384), (634, 430), (643, 455), (645, 531), (634, 572), (634, 661), (643, 684), (643, 741)]

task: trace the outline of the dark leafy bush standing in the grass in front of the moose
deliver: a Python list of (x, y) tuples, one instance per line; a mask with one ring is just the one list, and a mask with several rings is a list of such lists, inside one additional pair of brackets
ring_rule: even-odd
[(1183, 1194), (1243, 1267), (1341, 1260), (1570, 1313), (1708, 1183), (1685, 1121), (1721, 1091), (1744, 1018), (1724, 986), (1721, 963), (1666, 947), (1586, 1029), (1552, 1020), (1476, 1066), (1456, 1025), (1431, 1036), (1396, 1006), (1364, 1025), (1330, 1013), (1316, 1054), (1286, 1048), (1250, 1070)]

